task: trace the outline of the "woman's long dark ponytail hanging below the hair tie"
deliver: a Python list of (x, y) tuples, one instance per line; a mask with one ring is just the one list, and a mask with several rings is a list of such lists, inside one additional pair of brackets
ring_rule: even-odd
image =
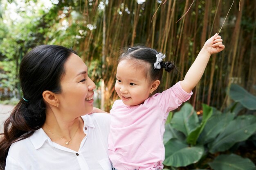
[[(43, 126), (45, 122), (45, 110), (40, 109), (43, 116), (36, 116), (29, 109), (29, 103), (24, 100), (14, 107), (11, 115), (4, 122), (4, 133), (0, 134), (0, 169), (4, 170), (7, 154), (11, 144), (26, 139), (34, 131)], [(30, 113), (29, 113), (30, 112)], [(32, 113), (32, 114), (31, 114)], [(31, 126), (33, 125), (34, 126)]]

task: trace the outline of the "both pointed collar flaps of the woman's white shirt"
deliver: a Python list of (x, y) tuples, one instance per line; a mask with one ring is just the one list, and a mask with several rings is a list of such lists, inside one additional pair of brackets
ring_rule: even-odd
[[(83, 129), (85, 128), (85, 126), (90, 126), (92, 128), (95, 128), (94, 122), (92, 120), (93, 118), (91, 115), (81, 116), (81, 118), (83, 119), (83, 122), (84, 122)], [(46, 141), (52, 144), (51, 139), (49, 138), (49, 136), (46, 135), (45, 131), (42, 128), (36, 130), (34, 134), (29, 137), (29, 139), (31, 140), (35, 149), (39, 149), (40, 147), (42, 147)]]

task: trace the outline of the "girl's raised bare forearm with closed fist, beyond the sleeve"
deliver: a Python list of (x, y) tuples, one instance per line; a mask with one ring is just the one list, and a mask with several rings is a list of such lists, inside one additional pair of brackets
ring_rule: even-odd
[(180, 83), (182, 89), (190, 93), (200, 81), (211, 54), (218, 53), (224, 50), (224, 48), (225, 46), (222, 44), (222, 39), (217, 33), (208, 39), (200, 50), (198, 57), (196, 57), (194, 63), (189, 68), (189, 71), (186, 73), (184, 80)]

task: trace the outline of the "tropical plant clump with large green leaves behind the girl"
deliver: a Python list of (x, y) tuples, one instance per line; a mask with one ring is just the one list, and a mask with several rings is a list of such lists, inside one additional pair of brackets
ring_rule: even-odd
[[(253, 110), (255, 96), (239, 85), (232, 84), (230, 89), (229, 96), (235, 102)], [(165, 125), (166, 168), (187, 166), (213, 170), (255, 170), (255, 160), (234, 153), (239, 144), (255, 137), (256, 132), (256, 116), (240, 115), (241, 109), (236, 107), (241, 105), (233, 104), (222, 113), (203, 104), (203, 114), (198, 116), (192, 105), (185, 103)]]

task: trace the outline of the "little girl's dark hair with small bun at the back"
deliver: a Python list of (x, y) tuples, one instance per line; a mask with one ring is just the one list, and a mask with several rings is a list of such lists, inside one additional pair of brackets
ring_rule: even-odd
[[(144, 46), (135, 46), (128, 48), (127, 51), (125, 51), (120, 57), (119, 62), (123, 59), (135, 59), (137, 61), (142, 61), (145, 63), (148, 63), (149, 68), (146, 70), (146, 76), (150, 76), (151, 81), (160, 80), (163, 75), (163, 70), (166, 70), (167, 72), (171, 72), (173, 69), (175, 69), (175, 65), (173, 62), (167, 61), (161, 61), (161, 69), (154, 69), (154, 63), (156, 62), (156, 54), (158, 54), (157, 50), (153, 48), (147, 48)], [(144, 65), (146, 66), (146, 65)], [(146, 68), (146, 67), (145, 67)]]

